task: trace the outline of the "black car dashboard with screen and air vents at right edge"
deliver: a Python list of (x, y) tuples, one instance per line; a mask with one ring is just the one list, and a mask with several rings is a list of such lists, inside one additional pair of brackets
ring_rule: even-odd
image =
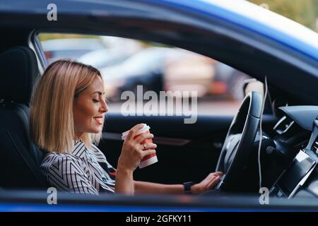
[[(276, 144), (293, 143), (294, 153), (270, 189), (270, 196), (293, 198), (318, 197), (318, 107), (279, 108), (281, 119), (273, 127)], [(275, 150), (282, 152), (276, 145)], [(269, 148), (267, 148), (269, 150)], [(285, 155), (288, 156), (288, 155)]]

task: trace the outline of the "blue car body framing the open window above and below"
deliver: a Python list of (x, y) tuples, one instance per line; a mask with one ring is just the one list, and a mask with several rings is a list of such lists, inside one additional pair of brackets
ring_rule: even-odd
[[(200, 47), (200, 49), (198, 47), (198, 49), (196, 49), (195, 40), (189, 42), (189, 46), (186, 46), (184, 44), (185, 42), (178, 43), (177, 40), (179, 36), (182, 35), (179, 35), (179, 33), (167, 32), (164, 29), (160, 32), (160, 29), (152, 31), (151, 28), (149, 28), (149, 33), (147, 33), (147, 29), (145, 29), (145, 34), (139, 35), (136, 31), (131, 32), (129, 27), (124, 27), (129, 26), (124, 24), (122, 25), (122, 30), (116, 30), (116, 28), (119, 28), (117, 23), (121, 21), (121, 18), (145, 21), (164, 21), (165, 24), (170, 21), (172, 24), (187, 25), (190, 28), (198, 28), (206, 32), (213, 32), (213, 34), (219, 35), (218, 37), (224, 39), (230, 37), (231, 40), (233, 40), (233, 46), (235, 46), (235, 43), (242, 43), (242, 48), (238, 47), (237, 49), (240, 49), (240, 51), (242, 50), (242, 52), (246, 52), (247, 54), (252, 52), (253, 49), (246, 49), (245, 47), (252, 45), (254, 50), (257, 49), (255, 51), (264, 53), (264, 56), (272, 56), (274, 59), (273, 61), (279, 59), (283, 62), (282, 64), (284, 64), (284, 67), (282, 71), (288, 71), (289, 65), (295, 66), (295, 68), (304, 72), (304, 76), (306, 77), (298, 78), (293, 74), (290, 74), (290, 77), (288, 77), (289, 75), (284, 74), (281, 77), (272, 76), (270, 79), (276, 81), (277, 86), (286, 92), (291, 91), (285, 87), (285, 84), (282, 84), (282, 81), (293, 84), (295, 87), (297, 87), (299, 81), (303, 81), (305, 85), (301, 85), (298, 89), (295, 88), (293, 90), (295, 96), (298, 96), (302, 100), (307, 99), (310, 103), (318, 102), (318, 94), (315, 90), (312, 90), (314, 87), (317, 87), (312, 81), (315, 81), (318, 76), (318, 34), (298, 23), (278, 16), (276, 13), (266, 11), (266, 9), (250, 4), (247, 1), (55, 1), (58, 10), (58, 22), (47, 22), (45, 19), (38, 20), (38, 18), (46, 16), (48, 11), (47, 4), (49, 3), (49, 1), (35, 0), (3, 0), (0, 2), (0, 15), (4, 16), (4, 20), (2, 20), (0, 24), (14, 26), (14, 23), (17, 22), (16, 20), (19, 20), (21, 25), (25, 25), (25, 27), (28, 28), (34, 23), (36, 32), (41, 30), (41, 26), (44, 27), (41, 31), (51, 31), (59, 28), (59, 21), (64, 23), (64, 18), (67, 16), (74, 16), (75, 18), (83, 21), (87, 20), (88, 22), (87, 24), (78, 24), (78, 28), (72, 27), (71, 29), (76, 31), (85, 28), (88, 32), (95, 32), (96, 30), (93, 30), (93, 28), (92, 30), (89, 30), (90, 25), (92, 25), (94, 21), (101, 23), (100, 21), (102, 21), (102, 18), (107, 19), (110, 17), (116, 19), (114, 20), (115, 22), (113, 21), (114, 28), (112, 28), (112, 30), (103, 30), (103, 32), (108, 32), (111, 35), (122, 35), (124, 37), (141, 38), (145, 36), (158, 42), (163, 40), (163, 38), (166, 38), (167, 40), (171, 38), (171, 40), (169, 40), (171, 42), (167, 44), (179, 44), (179, 47), (197, 50), (197, 52), (203, 54), (209, 54), (208, 47)], [(154, 12), (157, 12), (157, 14)], [(24, 20), (22, 20), (23, 18)], [(30, 20), (28, 20), (28, 18), (30, 18)], [(161, 22), (158, 23), (158, 25), (164, 24)], [(57, 25), (54, 25), (54, 23), (57, 23)], [(68, 23), (71, 24), (71, 22)], [(62, 25), (61, 29), (66, 29), (68, 26), (69, 24), (64, 27)], [(147, 24), (143, 24), (143, 26), (144, 28), (147, 28)], [(142, 25), (140, 25), (140, 27), (139, 25), (136, 25), (136, 27), (142, 28)], [(37, 30), (37, 28), (40, 29)], [(155, 36), (155, 34), (158, 34), (158, 36)], [(199, 38), (199, 36), (197, 37)], [(35, 51), (37, 51), (36, 47), (38, 43), (33, 41), (30, 42), (32, 42)], [(208, 41), (206, 43), (208, 43)], [(230, 52), (229, 49), (226, 51)], [(213, 57), (213, 52), (211, 52), (211, 56)], [(220, 59), (222, 59), (222, 57), (228, 60), (229, 64), (237, 66), (237, 68), (240, 69), (240, 65), (230, 62), (229, 56), (221, 56)], [(244, 59), (242, 59), (242, 61), (243, 60)], [(43, 68), (45, 67), (45, 65), (43, 65), (45, 64), (43, 63), (44, 61), (43, 58), (41, 61)], [(247, 64), (248, 62), (242, 65), (244, 66)], [(259, 62), (259, 65), (247, 72), (256, 73), (257, 67), (266, 69), (266, 62)], [(258, 78), (260, 80), (264, 80), (266, 72), (255, 76), (259, 76)], [(281, 71), (278, 71), (278, 73), (280, 72)], [(308, 80), (306, 78), (308, 78)], [(122, 204), (122, 200), (117, 201), (116, 198), (106, 198), (102, 200), (105, 201), (104, 203), (107, 203), (104, 205), (99, 202), (92, 203), (88, 206), (86, 205), (86, 199), (84, 198), (82, 201), (79, 201), (78, 205), (64, 203), (57, 206), (49, 206), (46, 203), (43, 203), (43, 201), (45, 201), (45, 194), (40, 194), (39, 197), (37, 197), (37, 194), (28, 194), (25, 196), (26, 200), (24, 201), (23, 196), (23, 191), (19, 194), (13, 193), (12, 196), (10, 193), (0, 194), (0, 211), (290, 211), (307, 209), (317, 210), (318, 206), (317, 203), (310, 203), (310, 200), (305, 199), (300, 202), (290, 201), (290, 203), (288, 203), (288, 201), (286, 201), (282, 204), (278, 204), (279, 202), (276, 201), (276, 206), (264, 207), (255, 204), (255, 202), (258, 202), (258, 198), (255, 197), (252, 198), (254, 206), (251, 204), (250, 207), (248, 206), (248, 202), (247, 204), (240, 205), (240, 201), (244, 200), (244, 198), (234, 201), (234, 204), (233, 201), (231, 204), (231, 201), (228, 200), (229, 207), (221, 206), (220, 203), (211, 203), (213, 198), (206, 198), (206, 203), (204, 203), (202, 198), (191, 198), (189, 201), (184, 201), (186, 199), (180, 199), (180, 201), (178, 198), (170, 201), (168, 199), (166, 202), (156, 206), (158, 204), (156, 202), (161, 199), (160, 197), (147, 199), (147, 201), (153, 203), (153, 206), (148, 206), (143, 199), (139, 200), (138, 198), (136, 199), (136, 203), (138, 204), (132, 202), (130, 206)], [(72, 199), (70, 200), (72, 202)], [(211, 202), (209, 203), (208, 201)]]

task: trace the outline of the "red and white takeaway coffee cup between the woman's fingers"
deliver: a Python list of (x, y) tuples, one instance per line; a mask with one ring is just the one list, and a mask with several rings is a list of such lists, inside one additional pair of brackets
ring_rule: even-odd
[[(141, 134), (143, 134), (143, 133), (150, 133), (149, 129), (150, 129), (150, 126), (147, 126), (147, 124), (143, 124), (143, 128), (139, 129), (139, 131), (136, 132), (134, 139), (141, 136)], [(122, 133), (122, 140), (126, 139), (128, 133), (129, 133), (129, 131), (125, 131), (124, 133)], [(141, 144), (145, 144), (145, 143), (153, 143), (153, 139), (148, 138), (148, 139), (144, 140), (143, 142), (141, 142)], [(139, 163), (139, 168), (148, 167), (148, 165), (151, 165), (155, 162), (158, 162), (158, 158), (157, 158), (157, 155), (155, 153), (153, 153), (151, 155), (146, 155), (145, 157), (143, 157), (143, 159)]]

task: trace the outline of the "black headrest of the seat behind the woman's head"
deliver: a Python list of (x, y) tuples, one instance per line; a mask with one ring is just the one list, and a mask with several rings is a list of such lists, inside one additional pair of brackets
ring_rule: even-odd
[(39, 74), (33, 50), (13, 47), (1, 53), (0, 69), (0, 99), (28, 105)]

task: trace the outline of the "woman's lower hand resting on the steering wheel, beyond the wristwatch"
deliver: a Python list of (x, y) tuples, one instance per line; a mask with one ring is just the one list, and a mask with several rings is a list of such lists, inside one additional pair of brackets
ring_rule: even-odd
[(218, 181), (220, 180), (220, 177), (222, 176), (223, 176), (223, 172), (212, 172), (211, 174), (208, 174), (208, 177), (206, 177), (206, 179), (204, 179), (202, 182), (191, 186), (192, 193), (201, 194), (204, 191), (213, 189), (214, 186), (218, 184)]

